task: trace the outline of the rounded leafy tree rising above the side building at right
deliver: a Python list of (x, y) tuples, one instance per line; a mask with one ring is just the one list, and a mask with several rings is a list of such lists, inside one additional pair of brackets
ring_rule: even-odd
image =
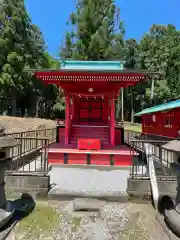
[[(139, 45), (139, 66), (161, 71), (161, 81), (155, 83), (155, 103), (180, 97), (180, 31), (173, 25), (153, 25)], [(150, 89), (146, 89), (147, 98)]]

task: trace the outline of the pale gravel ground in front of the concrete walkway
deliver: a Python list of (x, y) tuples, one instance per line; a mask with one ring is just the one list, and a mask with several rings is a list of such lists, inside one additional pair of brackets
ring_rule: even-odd
[[(49, 202), (60, 213), (56, 228), (40, 229), (40, 237), (30, 233), (28, 239), (43, 240), (168, 240), (155, 220), (151, 205), (105, 202), (99, 212), (71, 212), (70, 202)], [(38, 222), (36, 222), (38, 224)], [(18, 229), (16, 229), (17, 231)], [(16, 231), (8, 240), (15, 238)], [(17, 235), (16, 235), (17, 236)], [(19, 235), (20, 236), (20, 235)], [(14, 237), (14, 238), (13, 238)]]

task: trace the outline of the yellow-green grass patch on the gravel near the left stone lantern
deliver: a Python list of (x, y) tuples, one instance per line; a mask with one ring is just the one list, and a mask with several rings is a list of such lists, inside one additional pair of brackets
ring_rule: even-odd
[(60, 224), (60, 213), (46, 203), (37, 203), (34, 211), (22, 219), (17, 228), (21, 239), (39, 239), (56, 230)]

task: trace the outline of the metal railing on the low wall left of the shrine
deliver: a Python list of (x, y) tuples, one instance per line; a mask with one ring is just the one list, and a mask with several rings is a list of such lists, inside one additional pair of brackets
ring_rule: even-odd
[(48, 147), (56, 141), (55, 128), (7, 135), (17, 140), (17, 146), (9, 150), (12, 164), (7, 174), (48, 172)]

